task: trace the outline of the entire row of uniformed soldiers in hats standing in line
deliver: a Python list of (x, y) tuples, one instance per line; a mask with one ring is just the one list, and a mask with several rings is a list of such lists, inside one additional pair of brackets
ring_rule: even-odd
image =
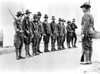
[[(30, 21), (29, 10), (23, 14), (21, 11), (17, 12), (17, 19), (14, 22), (15, 36), (14, 36), (14, 46), (16, 49), (16, 59), (24, 59), (21, 56), (21, 51), (23, 44), (25, 44), (26, 57), (31, 57), (43, 53), (40, 51), (40, 43), (43, 37), (44, 41), (44, 52), (50, 52), (48, 50), (48, 44), (51, 38), (51, 51), (63, 50), (64, 42), (66, 40), (68, 48), (70, 43), (72, 47), (76, 47), (77, 36), (75, 29), (77, 26), (75, 24), (75, 19), (67, 21), (67, 26), (65, 27), (65, 20), (59, 18), (58, 23), (55, 22), (55, 16), (52, 16), (52, 22), (48, 22), (48, 15), (44, 15), (44, 21), (41, 22), (42, 14), (38, 12), (33, 15), (33, 20)], [(24, 15), (24, 19), (22, 17)], [(66, 31), (67, 33), (66, 33)], [(58, 49), (55, 49), (55, 43), (57, 41)], [(29, 46), (32, 43), (32, 55), (29, 52)]]

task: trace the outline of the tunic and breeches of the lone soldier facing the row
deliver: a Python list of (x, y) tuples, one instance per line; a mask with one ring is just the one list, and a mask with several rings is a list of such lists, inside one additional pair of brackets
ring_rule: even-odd
[(92, 51), (92, 36), (93, 36), (93, 26), (94, 19), (90, 12), (86, 12), (82, 17), (82, 47), (85, 51)]

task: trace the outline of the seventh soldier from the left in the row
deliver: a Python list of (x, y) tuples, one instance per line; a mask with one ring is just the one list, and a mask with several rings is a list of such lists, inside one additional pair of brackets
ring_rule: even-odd
[(58, 50), (62, 50), (62, 37), (63, 37), (63, 26), (61, 23), (61, 18), (59, 18), (59, 23), (57, 24), (57, 46), (58, 46)]

